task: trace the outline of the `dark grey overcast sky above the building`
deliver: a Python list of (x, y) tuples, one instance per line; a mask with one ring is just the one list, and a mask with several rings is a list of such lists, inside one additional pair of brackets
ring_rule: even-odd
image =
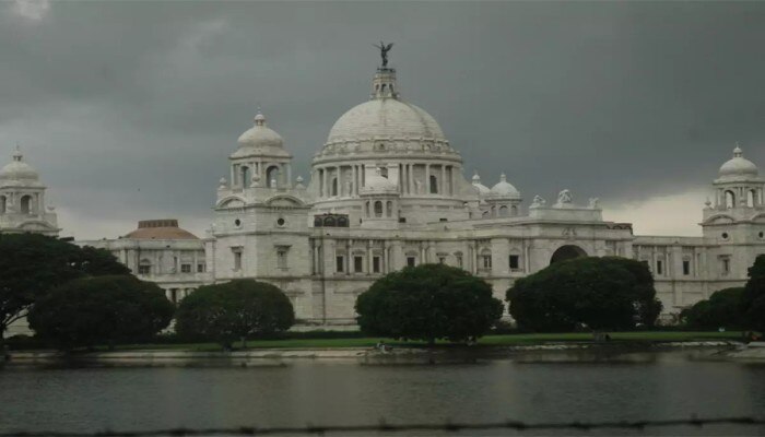
[(201, 236), (258, 106), (306, 177), (384, 39), (468, 178), (696, 235), (734, 143), (765, 165), (763, 23), (765, 2), (0, 2), (0, 153), (21, 144), (62, 235)]

